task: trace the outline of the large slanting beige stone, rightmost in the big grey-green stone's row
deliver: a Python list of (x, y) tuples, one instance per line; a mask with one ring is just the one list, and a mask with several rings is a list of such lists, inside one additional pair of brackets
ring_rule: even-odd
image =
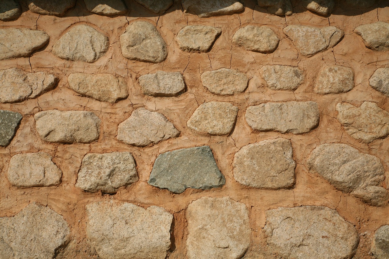
[(342, 192), (355, 192), (354, 196), (375, 206), (387, 203), (388, 192), (380, 186), (385, 170), (375, 156), (346, 144), (322, 144), (312, 151), (307, 166)]

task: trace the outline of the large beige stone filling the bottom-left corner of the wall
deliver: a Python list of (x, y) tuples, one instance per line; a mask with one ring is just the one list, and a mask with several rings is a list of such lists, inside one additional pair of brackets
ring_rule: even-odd
[(14, 217), (0, 218), (0, 258), (52, 259), (69, 234), (60, 214), (30, 203)]

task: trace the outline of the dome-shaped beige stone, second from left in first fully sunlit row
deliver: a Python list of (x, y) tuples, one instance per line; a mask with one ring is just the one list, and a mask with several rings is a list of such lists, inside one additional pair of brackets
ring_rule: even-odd
[(58, 58), (93, 63), (108, 50), (109, 40), (89, 25), (76, 25), (65, 33), (51, 51)]

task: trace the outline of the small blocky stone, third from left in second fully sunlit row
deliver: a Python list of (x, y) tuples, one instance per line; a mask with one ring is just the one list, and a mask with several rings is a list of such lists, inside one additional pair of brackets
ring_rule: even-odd
[(180, 72), (157, 71), (141, 75), (138, 80), (142, 93), (150, 96), (177, 96), (185, 90), (184, 77)]

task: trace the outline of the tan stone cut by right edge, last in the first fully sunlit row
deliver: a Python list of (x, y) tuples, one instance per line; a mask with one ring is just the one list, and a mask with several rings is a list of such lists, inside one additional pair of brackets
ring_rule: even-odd
[(364, 44), (374, 51), (389, 50), (389, 23), (378, 21), (377, 23), (358, 26), (354, 30), (360, 35)]

